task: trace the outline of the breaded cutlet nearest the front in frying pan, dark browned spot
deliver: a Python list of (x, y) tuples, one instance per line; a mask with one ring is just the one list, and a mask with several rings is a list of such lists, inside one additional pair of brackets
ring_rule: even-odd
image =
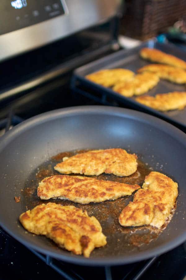
[(41, 204), (20, 215), (24, 228), (45, 235), (61, 248), (89, 257), (95, 247), (106, 245), (106, 236), (98, 220), (74, 206)]

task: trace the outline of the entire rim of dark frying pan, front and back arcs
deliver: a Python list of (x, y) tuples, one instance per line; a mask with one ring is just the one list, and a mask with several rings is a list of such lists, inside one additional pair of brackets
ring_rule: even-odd
[[(144, 121), (145, 123), (149, 123), (152, 127), (158, 127), (158, 129), (166, 131), (167, 134), (171, 135), (173, 138), (177, 139), (186, 147), (186, 134), (174, 127), (173, 125), (167, 123), (162, 119), (158, 119), (157, 117), (150, 116), (146, 113), (138, 112), (131, 109), (119, 108), (119, 107), (111, 107), (111, 106), (76, 106), (76, 107), (68, 107), (62, 108), (58, 110), (52, 110), (43, 114), (39, 114), (34, 116), (28, 120), (25, 120), (23, 123), (16, 125), (9, 132), (7, 132), (0, 139), (0, 152), (1, 150), (12, 140), (15, 136), (19, 135), (23, 131), (32, 128), (37, 124), (41, 124), (45, 121), (58, 119), (60, 117), (72, 116), (76, 114), (108, 114), (115, 116), (127, 117), (128, 119), (135, 119), (138, 121)], [(171, 249), (174, 249), (181, 243), (186, 240), (186, 232), (179, 235), (175, 240), (169, 241), (165, 245), (159, 245), (155, 249), (146, 250), (144, 252), (138, 252), (131, 256), (123, 256), (123, 257), (104, 257), (104, 258), (84, 258), (82, 256), (72, 256), (69, 253), (63, 251), (62, 254), (55, 253), (50, 250), (44, 249), (32, 244), (31, 241), (23, 240), (22, 236), (19, 234), (15, 234), (11, 231), (11, 228), (4, 225), (1, 221), (0, 217), (0, 226), (7, 231), (12, 237), (18, 240), (20, 243), (25, 245), (28, 248), (32, 248), (33, 250), (39, 251), (42, 254), (50, 255), (56, 259), (60, 259), (66, 262), (80, 264), (80, 265), (89, 265), (89, 266), (104, 266), (104, 265), (121, 265), (121, 264), (129, 264), (137, 261), (141, 261), (144, 259), (149, 259), (159, 254), (163, 254)]]

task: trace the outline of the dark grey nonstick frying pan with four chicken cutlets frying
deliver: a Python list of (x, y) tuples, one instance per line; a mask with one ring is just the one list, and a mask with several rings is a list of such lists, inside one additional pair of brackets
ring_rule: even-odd
[[(107, 217), (100, 222), (108, 244), (95, 249), (86, 259), (58, 248), (45, 236), (34, 236), (24, 230), (18, 217), (26, 207), (31, 208), (29, 201), (36, 198), (34, 192), (26, 197), (24, 190), (33, 188), (34, 179), (31, 178), (37, 175), (40, 166), (50, 163), (51, 157), (60, 152), (113, 147), (130, 147), (130, 151), (153, 170), (170, 176), (179, 184), (175, 214), (157, 238), (139, 247), (130, 246), (124, 231), (112, 233), (113, 222), (117, 224), (118, 220)], [(71, 263), (117, 265), (162, 254), (186, 240), (186, 135), (163, 120), (107, 106), (54, 110), (28, 119), (7, 132), (0, 140), (0, 158), (0, 225), (27, 247)], [(15, 203), (15, 196), (21, 197), (20, 203)], [(63, 200), (58, 203), (63, 204)], [(111, 204), (106, 205), (111, 207)], [(121, 212), (126, 200), (119, 205)], [(81, 208), (81, 204), (77, 203), (77, 207)], [(91, 204), (88, 209), (91, 215)], [(97, 216), (96, 211), (94, 216)]]

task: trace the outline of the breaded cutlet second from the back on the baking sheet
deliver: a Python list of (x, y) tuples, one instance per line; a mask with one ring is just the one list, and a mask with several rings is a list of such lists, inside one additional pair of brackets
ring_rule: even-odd
[(186, 71), (174, 66), (165, 64), (148, 64), (138, 69), (138, 72), (152, 72), (155, 73), (160, 79), (168, 80), (177, 84), (186, 83)]

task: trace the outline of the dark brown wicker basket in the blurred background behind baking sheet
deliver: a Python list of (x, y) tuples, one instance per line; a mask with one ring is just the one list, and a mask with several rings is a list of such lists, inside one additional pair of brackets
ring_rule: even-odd
[(186, 15), (186, 0), (126, 0), (121, 34), (147, 40)]

